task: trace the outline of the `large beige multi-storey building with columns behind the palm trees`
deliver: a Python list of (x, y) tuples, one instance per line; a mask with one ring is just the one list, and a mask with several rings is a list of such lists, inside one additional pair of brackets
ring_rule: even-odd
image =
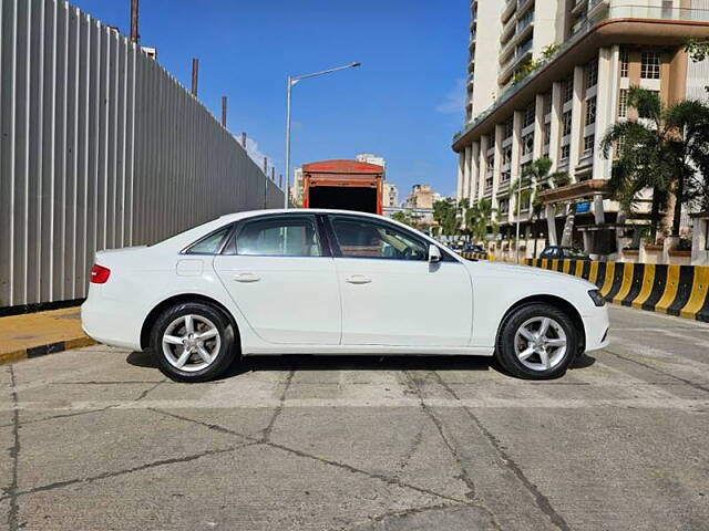
[[(485, 3), (501, 2), (473, 0), (471, 7), (480, 13)], [(540, 223), (535, 228), (557, 243), (565, 227), (567, 240), (583, 239), (587, 250), (608, 253), (598, 248), (607, 248), (608, 240), (616, 244), (612, 236), (627, 220), (618, 219), (618, 205), (608, 199), (612, 162), (602, 156), (600, 139), (616, 121), (635, 119), (627, 106), (630, 86), (657, 91), (666, 104), (706, 94), (707, 62), (689, 61), (684, 46), (690, 37), (709, 38), (709, 0), (502, 3), (497, 64), (485, 72), (496, 86), (494, 102), (481, 112), (469, 103), (466, 125), (453, 139), (458, 197), (490, 198), (503, 235), (510, 233), (517, 221), (510, 185), (526, 165), (546, 156), (553, 171), (568, 174), (569, 184), (541, 195), (545, 220), (533, 220), (531, 205), (520, 205), (522, 233)], [(545, 60), (549, 44), (558, 49)], [(477, 62), (481, 53), (476, 44), (471, 60)], [(515, 79), (530, 59), (536, 69)], [(569, 218), (580, 232), (571, 231)]]

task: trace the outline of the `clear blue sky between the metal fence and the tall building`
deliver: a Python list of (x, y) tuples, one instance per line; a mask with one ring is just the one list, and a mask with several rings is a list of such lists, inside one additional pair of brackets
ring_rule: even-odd
[[(73, 0), (127, 34), (130, 0)], [(141, 43), (228, 128), (284, 167), (286, 76), (360, 61), (294, 88), (295, 165), (387, 159), (403, 196), (417, 183), (455, 190), (451, 138), (463, 122), (470, 0), (141, 0)]]

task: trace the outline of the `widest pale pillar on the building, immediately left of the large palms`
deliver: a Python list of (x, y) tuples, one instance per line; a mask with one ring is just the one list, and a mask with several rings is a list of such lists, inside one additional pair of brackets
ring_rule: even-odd
[(600, 153), (600, 142), (608, 127), (616, 121), (616, 107), (618, 101), (618, 60), (619, 46), (602, 48), (598, 51), (598, 84), (596, 93), (596, 126), (594, 129), (594, 179), (609, 179), (612, 157), (607, 159)]

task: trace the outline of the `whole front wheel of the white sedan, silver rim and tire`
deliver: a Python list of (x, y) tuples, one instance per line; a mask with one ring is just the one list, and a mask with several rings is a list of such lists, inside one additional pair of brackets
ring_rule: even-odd
[(505, 319), (495, 355), (513, 376), (549, 379), (566, 372), (578, 345), (578, 331), (564, 312), (534, 303), (515, 309)]

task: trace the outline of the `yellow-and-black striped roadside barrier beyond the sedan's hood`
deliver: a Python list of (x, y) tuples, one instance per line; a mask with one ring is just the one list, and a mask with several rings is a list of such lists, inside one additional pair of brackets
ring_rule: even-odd
[(585, 279), (616, 304), (709, 322), (709, 267), (541, 258), (526, 263)]

